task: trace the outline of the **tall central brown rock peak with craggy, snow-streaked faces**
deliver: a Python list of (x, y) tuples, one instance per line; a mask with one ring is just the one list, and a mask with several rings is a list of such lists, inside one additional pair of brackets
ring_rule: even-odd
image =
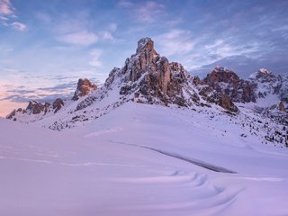
[[(184, 67), (176, 62), (169, 63), (167, 58), (157, 54), (150, 38), (139, 40), (136, 53), (126, 59), (124, 67), (112, 70), (106, 80), (107, 86), (112, 84), (115, 76), (121, 78), (120, 94), (133, 94), (139, 103), (186, 106), (198, 98), (193, 88), (188, 87), (190, 75)], [(184, 86), (187, 86), (185, 92)], [(184, 98), (184, 94), (189, 95), (189, 99)]]

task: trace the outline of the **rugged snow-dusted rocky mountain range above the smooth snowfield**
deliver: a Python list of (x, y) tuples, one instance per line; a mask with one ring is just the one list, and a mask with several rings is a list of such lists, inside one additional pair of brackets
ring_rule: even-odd
[(249, 133), (263, 143), (288, 146), (288, 76), (262, 68), (243, 80), (227, 68), (215, 67), (200, 79), (160, 56), (150, 38), (139, 40), (136, 53), (123, 67), (114, 67), (101, 87), (80, 79), (73, 98), (58, 98), (52, 104), (33, 101), (7, 118), (64, 130), (95, 121), (130, 101), (202, 112), (203, 118), (206, 112), (225, 113), (242, 125), (243, 137)]

